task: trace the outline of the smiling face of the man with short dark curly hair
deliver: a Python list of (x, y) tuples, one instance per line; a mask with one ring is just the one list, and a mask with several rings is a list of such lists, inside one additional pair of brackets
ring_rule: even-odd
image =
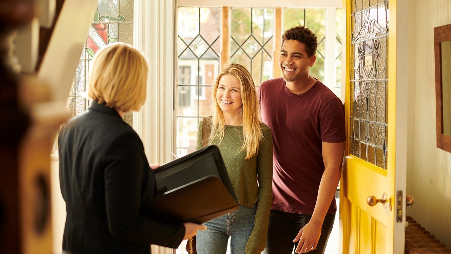
[(309, 69), (316, 56), (308, 56), (305, 44), (296, 40), (285, 40), (279, 56), (279, 65), (285, 82), (296, 82), (309, 77)]

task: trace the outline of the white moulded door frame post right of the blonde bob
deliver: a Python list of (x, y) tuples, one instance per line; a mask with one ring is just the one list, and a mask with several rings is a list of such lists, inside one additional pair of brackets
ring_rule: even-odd
[[(175, 137), (175, 0), (134, 1), (134, 46), (149, 64), (147, 99), (133, 128), (151, 164), (172, 160)], [(158, 253), (158, 252), (156, 252)]]

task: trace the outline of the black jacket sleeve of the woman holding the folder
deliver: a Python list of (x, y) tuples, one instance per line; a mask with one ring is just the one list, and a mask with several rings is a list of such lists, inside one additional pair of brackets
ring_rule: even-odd
[[(106, 147), (104, 165), (106, 216), (110, 233), (120, 240), (143, 245), (177, 248), (185, 228), (166, 223), (140, 212), (142, 183), (148, 181), (141, 140), (133, 132), (117, 137)], [(152, 173), (152, 172), (150, 172)]]

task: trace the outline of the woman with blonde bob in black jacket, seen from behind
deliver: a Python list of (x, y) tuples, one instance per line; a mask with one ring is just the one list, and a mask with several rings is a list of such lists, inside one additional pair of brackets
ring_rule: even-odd
[(177, 248), (204, 229), (141, 209), (156, 197), (155, 176), (143, 142), (122, 118), (143, 105), (146, 80), (147, 62), (129, 44), (110, 44), (94, 56), (88, 91), (93, 101), (58, 136), (64, 252), (149, 254), (151, 244)]

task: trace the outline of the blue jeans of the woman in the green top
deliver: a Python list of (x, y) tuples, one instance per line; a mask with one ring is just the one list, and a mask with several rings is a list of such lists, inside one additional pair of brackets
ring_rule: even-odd
[(226, 254), (230, 239), (231, 254), (244, 254), (246, 244), (254, 227), (255, 207), (239, 205), (239, 209), (214, 220), (205, 222), (207, 230), (198, 231), (196, 249), (198, 254)]

